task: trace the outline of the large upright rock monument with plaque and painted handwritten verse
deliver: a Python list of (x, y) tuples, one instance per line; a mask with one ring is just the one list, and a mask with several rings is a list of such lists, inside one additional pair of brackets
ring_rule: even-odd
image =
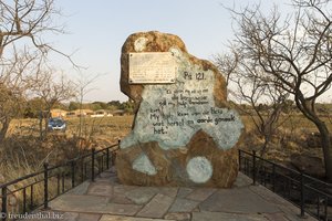
[(116, 157), (121, 182), (231, 187), (243, 125), (216, 66), (176, 35), (135, 33), (122, 48), (121, 90), (136, 105)]

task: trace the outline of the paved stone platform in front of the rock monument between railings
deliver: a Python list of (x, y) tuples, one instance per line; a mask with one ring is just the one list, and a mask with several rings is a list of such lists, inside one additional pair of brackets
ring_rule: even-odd
[(303, 220), (293, 204), (250, 183), (239, 173), (231, 189), (123, 186), (110, 170), (51, 201), (43, 212), (59, 214), (58, 221)]

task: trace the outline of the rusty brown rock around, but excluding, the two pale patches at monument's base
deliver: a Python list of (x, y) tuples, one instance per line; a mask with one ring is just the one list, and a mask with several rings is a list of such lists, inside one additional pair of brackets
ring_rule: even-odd
[[(134, 160), (143, 152), (157, 168), (156, 175), (149, 176), (133, 169)], [(199, 156), (205, 156), (214, 166), (211, 178), (205, 183), (194, 182), (186, 172), (188, 161)], [(181, 149), (163, 150), (157, 143), (122, 149), (116, 156), (116, 167), (118, 179), (126, 185), (229, 188), (238, 175), (237, 160), (237, 148), (220, 150), (207, 134), (199, 131)]]

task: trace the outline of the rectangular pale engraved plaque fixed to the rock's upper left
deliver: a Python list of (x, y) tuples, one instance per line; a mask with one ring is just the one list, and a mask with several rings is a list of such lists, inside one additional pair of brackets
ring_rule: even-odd
[(170, 52), (129, 53), (129, 84), (175, 83), (176, 72)]

